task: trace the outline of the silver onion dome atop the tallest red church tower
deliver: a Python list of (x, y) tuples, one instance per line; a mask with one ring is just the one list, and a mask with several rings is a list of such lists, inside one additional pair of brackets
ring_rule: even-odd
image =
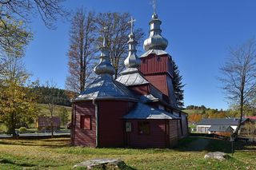
[(165, 50), (168, 41), (161, 35), (160, 25), (162, 22), (158, 19), (158, 14), (153, 14), (150, 21), (150, 37), (144, 41), (143, 48), (148, 51), (150, 49), (162, 49)]

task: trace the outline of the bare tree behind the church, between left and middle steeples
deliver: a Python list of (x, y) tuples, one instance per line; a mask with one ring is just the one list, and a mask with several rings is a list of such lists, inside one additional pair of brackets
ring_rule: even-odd
[[(97, 16), (98, 34), (101, 35), (101, 37), (98, 38), (98, 45), (102, 43), (102, 28), (107, 27), (108, 29), (106, 31), (106, 38), (110, 47), (111, 62), (115, 69), (114, 79), (116, 79), (118, 73), (125, 68), (123, 61), (126, 59), (128, 53), (127, 42), (129, 40), (128, 34), (130, 34), (129, 21), (130, 14), (128, 13), (100, 13)], [(142, 29), (134, 30), (134, 34), (139, 48), (139, 45), (142, 45), (145, 34)]]

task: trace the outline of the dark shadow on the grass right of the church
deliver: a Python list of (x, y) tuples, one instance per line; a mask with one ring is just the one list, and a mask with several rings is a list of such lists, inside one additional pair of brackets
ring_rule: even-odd
[[(234, 141), (234, 150), (251, 150), (256, 151), (256, 148), (248, 148), (248, 144), (242, 141)], [(232, 144), (228, 140), (222, 140), (206, 136), (189, 136), (178, 142), (174, 148), (178, 151), (188, 152), (226, 152), (232, 153)]]

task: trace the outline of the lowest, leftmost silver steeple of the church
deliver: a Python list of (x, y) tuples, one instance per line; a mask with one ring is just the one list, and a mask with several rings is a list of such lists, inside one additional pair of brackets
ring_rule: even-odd
[(112, 76), (114, 75), (115, 70), (110, 62), (110, 49), (106, 46), (106, 27), (104, 27), (104, 38), (101, 51), (100, 62), (94, 67), (94, 72), (98, 75), (110, 74), (110, 76)]

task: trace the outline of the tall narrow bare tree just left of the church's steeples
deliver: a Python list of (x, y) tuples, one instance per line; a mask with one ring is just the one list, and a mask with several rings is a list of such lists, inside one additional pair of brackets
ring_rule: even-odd
[(66, 89), (76, 93), (81, 93), (94, 77), (94, 55), (98, 50), (95, 45), (94, 19), (94, 12), (86, 13), (85, 10), (79, 9), (71, 23)]

